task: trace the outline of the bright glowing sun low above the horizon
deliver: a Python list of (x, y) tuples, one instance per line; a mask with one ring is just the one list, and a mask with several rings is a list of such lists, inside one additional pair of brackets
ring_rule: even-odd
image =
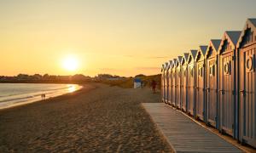
[(79, 61), (74, 56), (67, 56), (63, 60), (62, 65), (63, 65), (63, 68), (67, 71), (76, 71), (78, 70), (78, 67), (79, 67)]

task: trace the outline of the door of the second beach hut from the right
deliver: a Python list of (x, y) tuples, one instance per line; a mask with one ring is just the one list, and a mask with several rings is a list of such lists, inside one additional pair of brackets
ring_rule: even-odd
[(234, 60), (233, 53), (221, 55), (220, 65), (220, 109), (221, 129), (233, 135), (234, 128)]

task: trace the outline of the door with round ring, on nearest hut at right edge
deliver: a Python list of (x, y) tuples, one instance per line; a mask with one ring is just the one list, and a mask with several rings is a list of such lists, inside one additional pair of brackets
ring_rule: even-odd
[(241, 124), (242, 139), (256, 147), (256, 44), (241, 49)]

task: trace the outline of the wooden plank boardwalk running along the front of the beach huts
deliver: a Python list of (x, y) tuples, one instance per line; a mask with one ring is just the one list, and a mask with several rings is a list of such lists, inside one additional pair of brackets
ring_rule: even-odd
[(163, 103), (142, 105), (176, 152), (242, 152)]

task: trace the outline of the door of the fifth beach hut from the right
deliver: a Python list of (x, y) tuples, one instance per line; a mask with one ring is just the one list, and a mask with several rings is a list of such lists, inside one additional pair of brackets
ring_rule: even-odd
[(194, 115), (194, 66), (189, 65), (188, 68), (188, 111), (190, 115)]

